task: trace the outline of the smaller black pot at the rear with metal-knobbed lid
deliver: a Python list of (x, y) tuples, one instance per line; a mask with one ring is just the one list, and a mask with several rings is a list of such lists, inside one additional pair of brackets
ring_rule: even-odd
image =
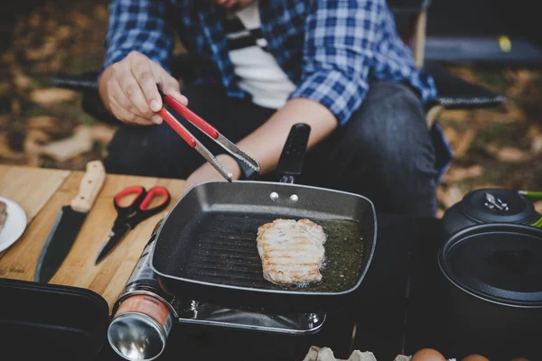
[(541, 217), (517, 190), (488, 188), (467, 193), (446, 210), (443, 223), (446, 235), (452, 236), (463, 228), (489, 223), (533, 225)]

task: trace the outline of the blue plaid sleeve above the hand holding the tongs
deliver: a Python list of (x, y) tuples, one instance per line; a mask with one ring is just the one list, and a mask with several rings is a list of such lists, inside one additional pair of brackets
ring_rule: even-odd
[(167, 0), (110, 0), (106, 59), (102, 68), (139, 51), (169, 71), (173, 28), (167, 22)]

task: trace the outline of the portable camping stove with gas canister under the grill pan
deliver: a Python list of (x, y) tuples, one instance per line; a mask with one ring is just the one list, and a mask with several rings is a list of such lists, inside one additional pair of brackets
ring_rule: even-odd
[(160, 356), (175, 324), (291, 336), (311, 335), (322, 328), (325, 314), (232, 310), (173, 297), (164, 292), (151, 267), (154, 239), (155, 234), (145, 246), (124, 291), (117, 299), (113, 308), (114, 317), (107, 330), (109, 344), (127, 360), (153, 360)]

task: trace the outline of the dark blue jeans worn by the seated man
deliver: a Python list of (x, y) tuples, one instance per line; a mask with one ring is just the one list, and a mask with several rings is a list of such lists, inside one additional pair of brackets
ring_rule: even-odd
[[(182, 91), (192, 110), (232, 142), (274, 113), (213, 88), (187, 86)], [(199, 130), (192, 134), (211, 152), (223, 153)], [(110, 173), (185, 179), (205, 162), (165, 124), (123, 126), (107, 150), (104, 164)], [(361, 194), (375, 203), (378, 212), (433, 216), (437, 177), (435, 150), (419, 98), (404, 85), (382, 81), (371, 84), (347, 125), (307, 154), (298, 182)]]

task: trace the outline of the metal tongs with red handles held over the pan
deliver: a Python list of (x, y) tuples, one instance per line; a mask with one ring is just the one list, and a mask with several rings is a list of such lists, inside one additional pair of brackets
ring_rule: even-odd
[(220, 134), (218, 130), (216, 130), (212, 125), (203, 120), (201, 116), (198, 116), (197, 114), (192, 112), (192, 110), (190, 110), (188, 107), (183, 106), (178, 100), (174, 99), (173, 97), (164, 94), (160, 87), (158, 87), (158, 90), (160, 91), (162, 99), (164, 100), (164, 106), (162, 107), (162, 109), (160, 109), (158, 115), (162, 116), (165, 123), (170, 125), (173, 130), (177, 132), (177, 134), (181, 135), (184, 142), (188, 143), (188, 145), (198, 151), (203, 156), (203, 158), (207, 160), (207, 162), (210, 162), (210, 164), (217, 171), (220, 172), (222, 177), (224, 177), (228, 181), (231, 181), (233, 179), (231, 172), (226, 169), (226, 167), (224, 167), (224, 165), (220, 163), (217, 158), (212, 155), (212, 153), (210, 153), (209, 150), (188, 131), (188, 129), (182, 126), (182, 124), (179, 123), (177, 119), (175, 119), (175, 117), (167, 110), (165, 105), (170, 106), (175, 112), (179, 113), (181, 116), (184, 116), (184, 118), (186, 118), (186, 120), (192, 123), (192, 125), (198, 127), (201, 132), (207, 134), (210, 139), (214, 140), (216, 143), (219, 143), (222, 148), (224, 148), (238, 160), (246, 162), (255, 171), (260, 170), (260, 165), (254, 158), (250, 157), (247, 153), (241, 151), (237, 147), (237, 145), (231, 143), (228, 138)]

